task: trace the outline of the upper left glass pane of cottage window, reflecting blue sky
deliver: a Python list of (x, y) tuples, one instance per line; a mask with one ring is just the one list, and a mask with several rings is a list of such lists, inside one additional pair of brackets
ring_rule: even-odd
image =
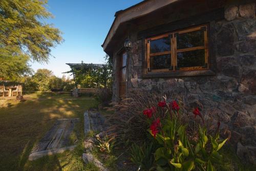
[(150, 41), (150, 53), (170, 51), (170, 38), (164, 37)]

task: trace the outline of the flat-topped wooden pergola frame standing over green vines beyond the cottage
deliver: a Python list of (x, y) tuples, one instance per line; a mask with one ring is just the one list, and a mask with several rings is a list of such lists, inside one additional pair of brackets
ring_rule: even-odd
[(75, 70), (83, 70), (84, 73), (88, 71), (88, 69), (98, 69), (98, 68), (103, 68), (103, 74), (104, 74), (104, 87), (106, 88), (106, 81), (107, 81), (107, 68), (106, 64), (95, 64), (95, 63), (66, 63), (68, 66), (71, 68), (71, 72), (73, 74), (73, 78), (75, 81), (75, 86), (77, 89), (77, 81), (76, 81), (76, 73), (74, 72)]

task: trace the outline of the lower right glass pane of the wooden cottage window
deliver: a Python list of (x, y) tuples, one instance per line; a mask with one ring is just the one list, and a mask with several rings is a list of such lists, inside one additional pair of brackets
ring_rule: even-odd
[(177, 53), (177, 65), (178, 68), (204, 66), (204, 49)]

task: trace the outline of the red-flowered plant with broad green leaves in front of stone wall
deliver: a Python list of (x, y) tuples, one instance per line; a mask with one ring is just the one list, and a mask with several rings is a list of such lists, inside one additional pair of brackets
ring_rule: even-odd
[[(141, 114), (148, 123), (147, 131), (152, 136), (151, 141), (158, 147), (151, 154), (154, 156), (154, 164), (150, 170), (208, 171), (215, 170), (216, 164), (222, 164), (219, 150), (228, 138), (220, 140), (220, 122), (215, 134), (208, 135), (204, 117), (200, 109), (195, 108), (193, 114), (190, 114), (194, 117), (186, 117), (199, 116), (201, 122), (197, 122), (198, 134), (190, 134), (188, 122), (176, 100), (167, 103), (164, 97), (164, 100), (156, 104), (144, 109)], [(132, 161), (135, 159), (132, 153)]]

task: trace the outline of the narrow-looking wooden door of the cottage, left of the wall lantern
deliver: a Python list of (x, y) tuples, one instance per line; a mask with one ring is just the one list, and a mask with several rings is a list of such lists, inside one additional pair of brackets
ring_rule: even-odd
[(127, 53), (124, 52), (120, 56), (119, 61), (119, 96), (123, 96), (126, 93), (126, 62), (127, 61)]

